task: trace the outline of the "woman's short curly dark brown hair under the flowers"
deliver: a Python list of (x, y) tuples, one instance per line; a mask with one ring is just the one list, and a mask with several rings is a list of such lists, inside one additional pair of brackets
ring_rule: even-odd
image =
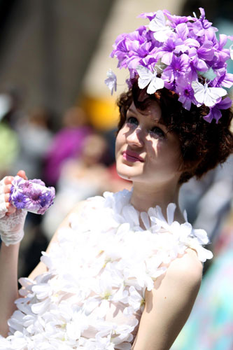
[[(140, 101), (141, 94), (143, 99)], [(118, 99), (117, 104), (120, 109), (118, 131), (125, 124), (126, 113), (132, 102), (136, 109), (143, 112), (154, 101), (160, 104), (162, 123), (167, 127), (168, 132), (174, 132), (180, 141), (183, 173), (179, 183), (185, 183), (192, 176), (201, 178), (206, 172), (225, 162), (233, 152), (230, 109), (221, 111), (222, 118), (218, 124), (216, 120), (208, 123), (203, 117), (209, 113), (209, 107), (197, 107), (192, 104), (188, 111), (183, 108), (181, 102), (178, 102), (178, 95), (175, 92), (163, 88), (157, 90), (155, 94), (146, 94), (145, 89), (139, 89), (137, 82)]]

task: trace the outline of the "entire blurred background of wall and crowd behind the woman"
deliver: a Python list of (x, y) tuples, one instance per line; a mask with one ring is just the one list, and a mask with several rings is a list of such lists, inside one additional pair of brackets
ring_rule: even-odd
[[(76, 202), (131, 188), (115, 172), (118, 109), (104, 84), (106, 71), (116, 71), (115, 38), (143, 25), (140, 13), (199, 16), (199, 7), (220, 34), (233, 35), (232, 0), (0, 0), (0, 175), (24, 169), (57, 190), (50, 211), (27, 217), (19, 276), (35, 267)], [(118, 71), (118, 94), (126, 78)], [(208, 232), (214, 258), (173, 350), (233, 349), (232, 175), (233, 157), (181, 189), (181, 207)]]

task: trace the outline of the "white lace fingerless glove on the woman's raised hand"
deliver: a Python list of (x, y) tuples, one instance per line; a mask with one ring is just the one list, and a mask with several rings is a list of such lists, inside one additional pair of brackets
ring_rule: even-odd
[(5, 179), (0, 181), (0, 236), (6, 246), (9, 246), (17, 244), (24, 237), (24, 221), (27, 211), (16, 210), (15, 213), (6, 216), (8, 210), (4, 195)]

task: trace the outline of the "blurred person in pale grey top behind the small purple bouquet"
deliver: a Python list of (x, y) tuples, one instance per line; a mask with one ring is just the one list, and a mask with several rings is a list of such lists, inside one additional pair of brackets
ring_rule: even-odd
[[(43, 162), (45, 153), (52, 141), (50, 130), (51, 113), (43, 107), (35, 107), (24, 116), (14, 118), (14, 127), (19, 140), (19, 153), (11, 165), (11, 172), (15, 174), (17, 169), (23, 168), (29, 179), (43, 177)], [(48, 245), (43, 230), (41, 229), (42, 216), (28, 213), (25, 224), (25, 239), (20, 249), (19, 275), (29, 274), (34, 269), (41, 251)]]

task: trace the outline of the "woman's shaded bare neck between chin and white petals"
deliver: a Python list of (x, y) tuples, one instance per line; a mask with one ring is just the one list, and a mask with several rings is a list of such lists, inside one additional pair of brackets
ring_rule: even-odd
[(148, 211), (150, 207), (159, 205), (162, 213), (167, 217), (167, 206), (169, 203), (176, 204), (175, 220), (183, 222), (183, 214), (178, 205), (178, 194), (180, 186), (147, 186), (145, 183), (134, 183), (131, 204), (140, 212)]

